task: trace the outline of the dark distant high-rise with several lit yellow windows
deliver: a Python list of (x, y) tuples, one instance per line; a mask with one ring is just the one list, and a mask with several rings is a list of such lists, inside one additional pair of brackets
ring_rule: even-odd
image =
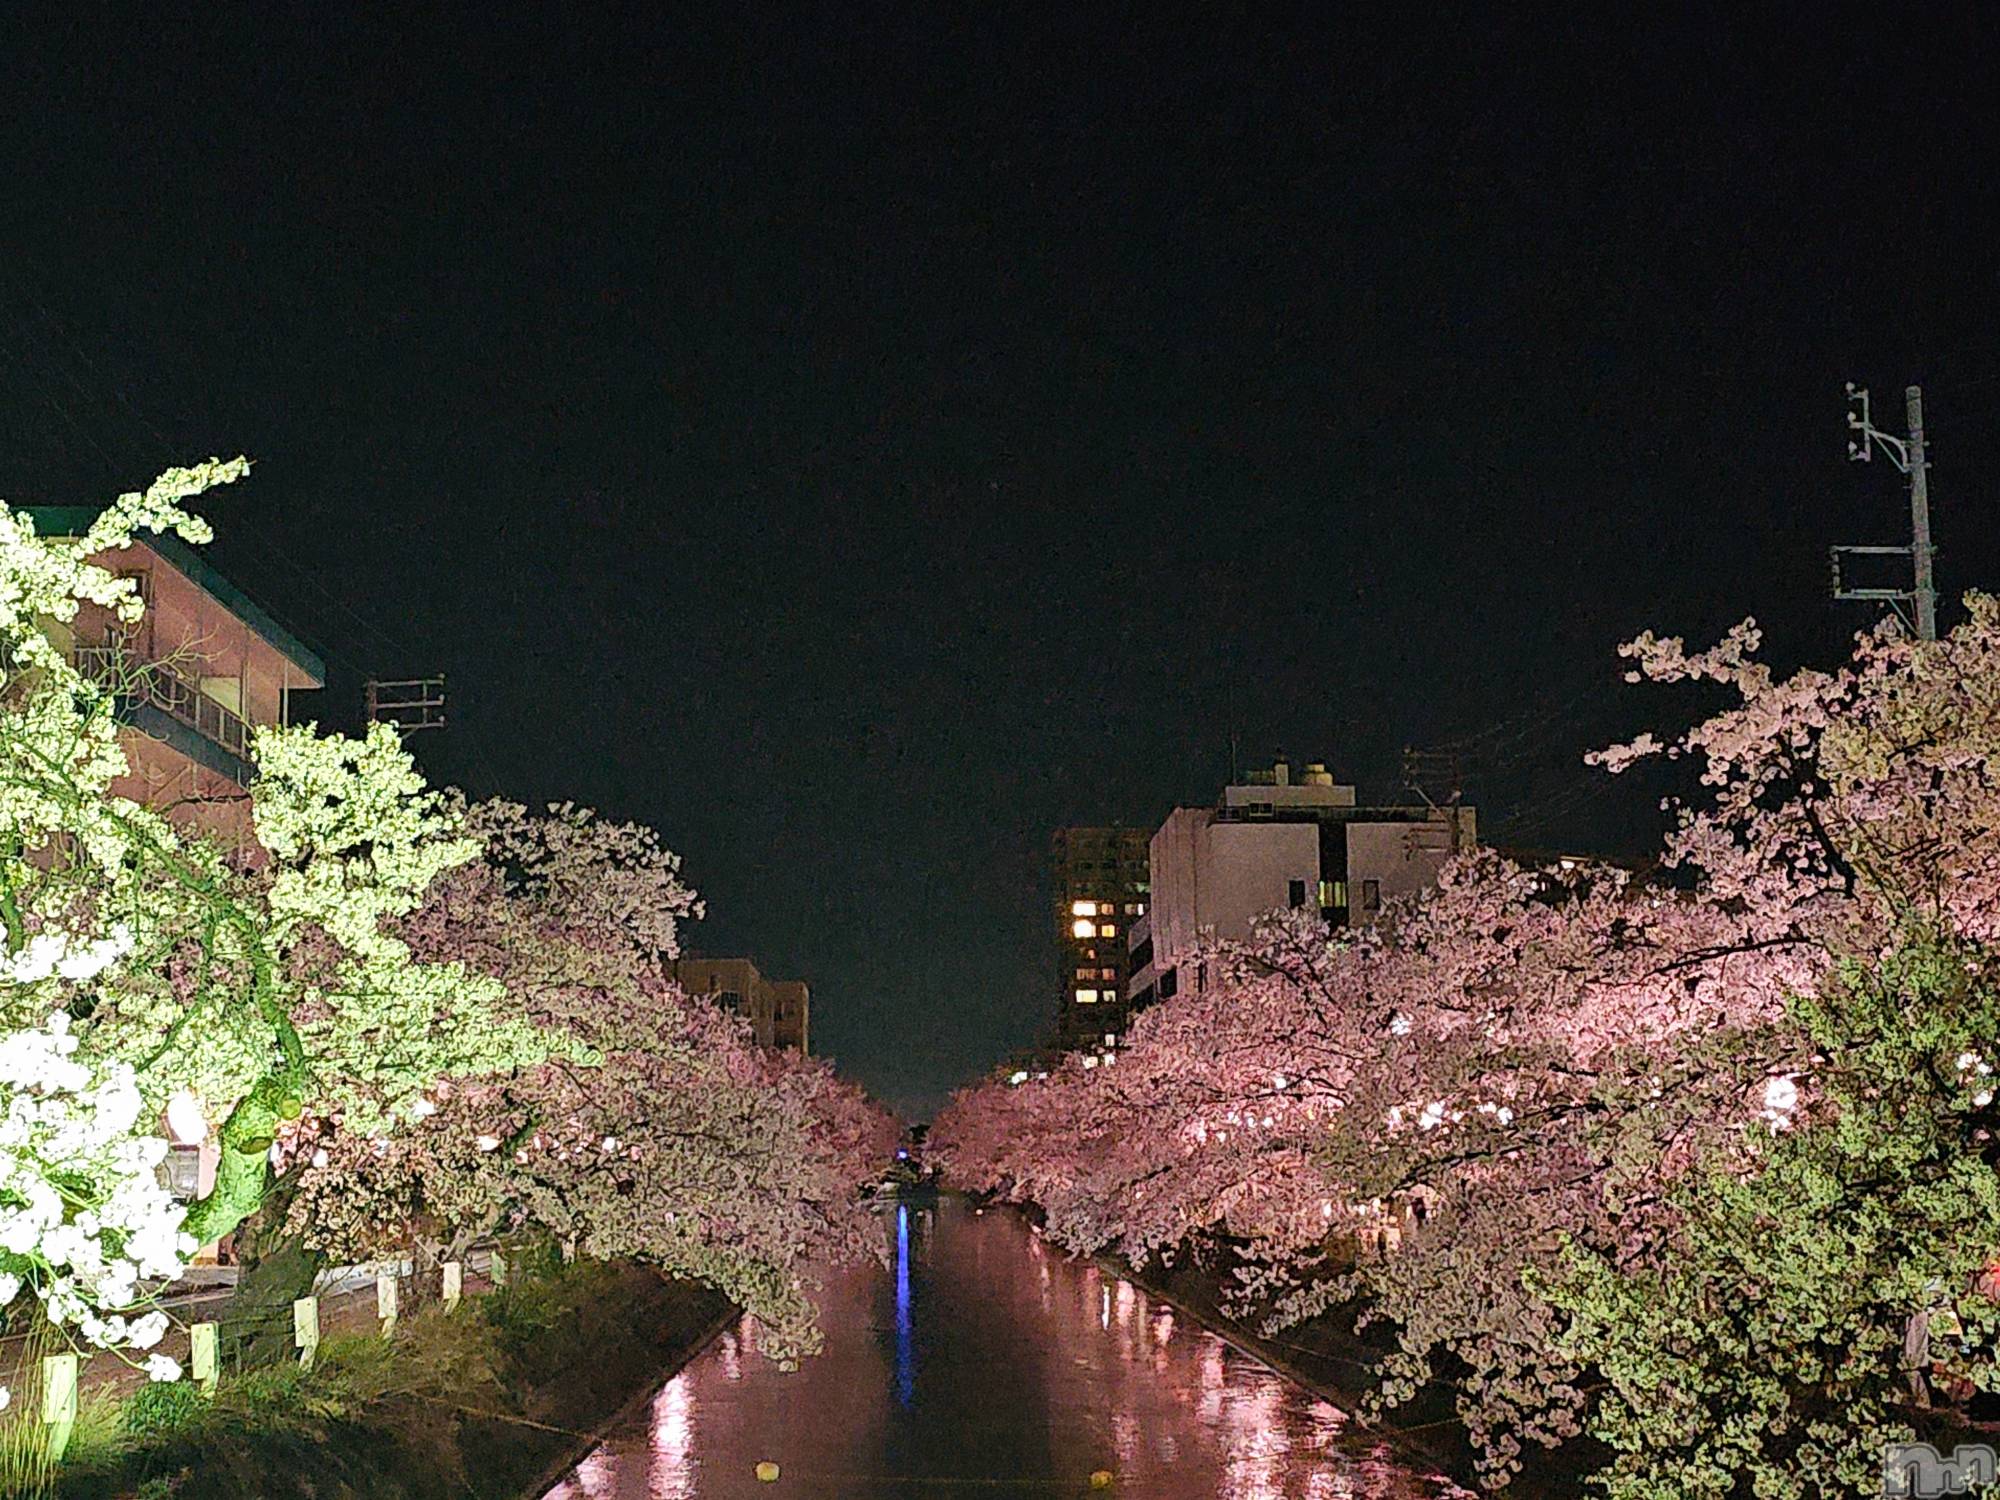
[(1060, 990), (1056, 1038), (1102, 1044), (1126, 1024), (1128, 942), (1152, 900), (1144, 828), (1058, 828), (1052, 840)]

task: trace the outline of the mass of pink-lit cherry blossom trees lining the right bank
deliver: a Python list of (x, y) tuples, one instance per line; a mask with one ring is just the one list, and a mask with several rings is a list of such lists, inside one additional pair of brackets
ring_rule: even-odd
[[(1906, 1256), (1926, 1284), (1960, 1296), (1966, 1268), (1992, 1254), (1986, 1126), (1878, 1130), (1866, 1086), (1830, 1058), (1860, 1048), (1880, 1088), (1892, 1076), (1880, 1006), (1852, 996), (1902, 996), (1894, 1066), (1922, 1070), (1954, 1120), (1990, 1106), (1980, 1076), (1958, 1070), (1984, 1060), (1980, 992), (1894, 976), (1908, 970), (1898, 954), (1940, 946), (1986, 972), (2000, 608), (1970, 598), (1966, 624), (1934, 644), (1870, 632), (1834, 672), (1780, 680), (1756, 646), (1746, 622), (1708, 652), (1650, 636), (1626, 648), (1634, 678), (1736, 698), (1674, 740), (1594, 756), (1614, 772), (1648, 756), (1700, 766), (1704, 796), (1670, 806), (1658, 874), (1474, 854), (1368, 932), (1278, 918), (1210, 958), (1224, 986), (1142, 1016), (1116, 1066), (1070, 1060), (1046, 1082), (960, 1096), (932, 1132), (940, 1158), (968, 1186), (1036, 1202), (1080, 1250), (1230, 1244), (1244, 1306), (1266, 1326), (1336, 1304), (1386, 1320), (1398, 1348), (1380, 1400), (1456, 1372), (1490, 1482), (1518, 1470), (1524, 1444), (1586, 1424), (1636, 1456), (1630, 1472), (1688, 1458), (1638, 1414), (1694, 1370), (1710, 1384), (1678, 1390), (1676, 1410), (1726, 1422), (1742, 1398), (1794, 1422), (1792, 1446), (1704, 1450), (1726, 1482), (1698, 1492), (1752, 1472), (1774, 1482), (1812, 1422), (1812, 1452), (1852, 1468), (1886, 1430), (1876, 1398), (1846, 1426), (1826, 1416), (1842, 1408), (1834, 1390), (1864, 1388), (1852, 1372), (1838, 1386), (1806, 1372), (1778, 1408), (1768, 1390), (1716, 1394), (1752, 1380), (1718, 1374), (1722, 1330), (1764, 1292), (1756, 1276), (1732, 1284), (1742, 1308), (1726, 1310), (1690, 1246), (1734, 1236), (1782, 1282), (1800, 1262), (1788, 1270), (1782, 1236), (1752, 1232), (1764, 1220), (1742, 1212), (1744, 1184), (1766, 1184), (1776, 1212), (1804, 1224), (1822, 1208), (1810, 1184), (1838, 1162), (1870, 1224), (1930, 1204), (1916, 1222), (1946, 1244)], [(1774, 1138), (1796, 1156), (1774, 1156)], [(1912, 1180), (1890, 1170), (1912, 1140), (1958, 1148)], [(1844, 1324), (1870, 1360), (1868, 1390), (1898, 1378), (1884, 1330), (1916, 1328), (1930, 1306), (1890, 1244), (1818, 1262), (1874, 1278)], [(1648, 1358), (1662, 1326), (1626, 1318), (1638, 1306), (1708, 1308), (1716, 1336), (1664, 1376)], [(1772, 1298), (1758, 1316), (1790, 1306)]]

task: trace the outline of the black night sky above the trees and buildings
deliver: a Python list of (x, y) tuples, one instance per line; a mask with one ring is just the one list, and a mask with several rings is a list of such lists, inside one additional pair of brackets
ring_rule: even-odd
[(1044, 1022), (1050, 830), (1232, 732), (1648, 848), (1614, 644), (1830, 660), (1900, 540), (1844, 378), (2000, 586), (1986, 6), (358, 10), (0, 22), (0, 492), (250, 452), (322, 716), (448, 672), (436, 778), (660, 826), (896, 1102)]

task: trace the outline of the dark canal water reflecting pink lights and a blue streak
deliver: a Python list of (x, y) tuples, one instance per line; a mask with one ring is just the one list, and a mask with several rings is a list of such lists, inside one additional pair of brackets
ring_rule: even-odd
[(1014, 1214), (904, 1204), (882, 1232), (886, 1268), (828, 1284), (820, 1356), (726, 1332), (548, 1500), (1464, 1494)]

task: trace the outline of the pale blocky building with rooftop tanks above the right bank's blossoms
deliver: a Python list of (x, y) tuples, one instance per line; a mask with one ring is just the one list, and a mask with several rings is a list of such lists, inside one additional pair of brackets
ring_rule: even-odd
[(1128, 1004), (1204, 988), (1192, 954), (1248, 938), (1272, 910), (1310, 906), (1334, 926), (1366, 926), (1476, 840), (1474, 808), (1362, 808), (1318, 762), (1296, 780), (1282, 760), (1250, 772), (1218, 806), (1174, 808), (1152, 836), (1152, 912), (1132, 934)]

